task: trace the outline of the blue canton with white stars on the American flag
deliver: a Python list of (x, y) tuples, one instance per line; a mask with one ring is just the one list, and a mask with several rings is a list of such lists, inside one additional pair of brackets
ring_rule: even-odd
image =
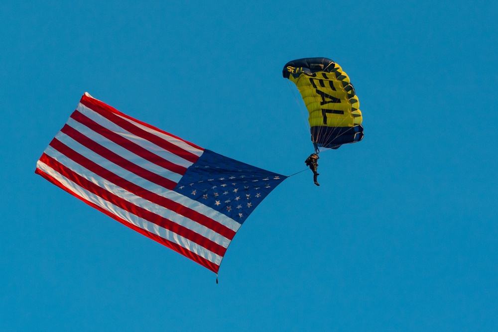
[(286, 178), (204, 150), (173, 190), (242, 224)]

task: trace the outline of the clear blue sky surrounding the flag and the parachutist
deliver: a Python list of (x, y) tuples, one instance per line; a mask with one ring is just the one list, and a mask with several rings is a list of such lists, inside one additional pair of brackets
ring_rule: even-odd
[[(104, 3), (105, 2), (105, 3)], [(160, 3), (162, 2), (162, 3)], [(244, 3), (243, 3), (244, 2)], [(494, 1), (7, 1), (1, 331), (496, 331)], [(362, 142), (284, 181), (215, 274), (34, 174), (85, 92), (290, 175), (283, 65), (351, 77)]]

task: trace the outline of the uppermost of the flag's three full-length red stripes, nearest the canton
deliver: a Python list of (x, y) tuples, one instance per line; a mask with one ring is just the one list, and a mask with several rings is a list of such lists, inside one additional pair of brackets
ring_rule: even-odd
[(68, 158), (72, 159), (76, 163), (80, 164), (81, 166), (85, 167), (86, 169), (90, 170), (91, 172), (99, 175), (100, 177), (108, 180), (111, 183), (114, 183), (115, 185), (129, 191), (130, 193), (133, 193), (136, 196), (139, 196), (143, 199), (146, 199), (152, 203), (155, 203), (157, 205), (160, 205), (168, 210), (174, 211), (178, 213), (179, 215), (182, 215), (184, 217), (189, 218), (190, 220), (196, 221), (212, 230), (215, 232), (225, 236), (228, 239), (233, 239), (235, 236), (235, 231), (224, 226), (223, 224), (219, 223), (218, 221), (214, 221), (209, 217), (204, 216), (203, 214), (189, 209), (180, 203), (174, 202), (172, 200), (169, 200), (165, 197), (162, 197), (160, 195), (157, 195), (155, 193), (152, 193), (148, 191), (145, 188), (142, 188), (140, 186), (135, 185), (134, 183), (131, 183), (130, 181), (120, 177), (119, 175), (116, 175), (115, 173), (109, 171), (108, 169), (98, 165), (97, 163), (91, 161), (87, 157), (81, 155), (80, 153), (74, 151), (61, 141), (59, 141), (57, 138), (54, 138), (50, 142), (50, 146), (59, 151), (60, 153), (64, 154)]

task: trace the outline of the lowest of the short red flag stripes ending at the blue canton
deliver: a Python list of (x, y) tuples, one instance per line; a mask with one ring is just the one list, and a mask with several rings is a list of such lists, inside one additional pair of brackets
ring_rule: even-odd
[[(64, 125), (64, 127), (62, 127), (61, 132), (65, 133), (66, 135), (68, 135), (69, 137), (71, 137), (81, 145), (86, 146), (87, 148), (94, 151), (98, 155), (130, 171), (131, 173), (138, 175), (139, 177), (142, 177), (152, 183), (155, 183), (158, 186), (167, 188), (169, 190), (172, 190), (173, 188), (176, 187), (176, 182), (166, 179), (154, 172), (146, 170), (145, 168), (132, 163), (128, 159), (123, 158), (122, 156), (109, 150), (105, 146), (100, 145), (99, 143), (88, 138), (87, 136), (83, 135), (81, 132), (79, 132), (78, 130), (74, 129), (73, 127), (67, 124)], [(155, 164), (157, 165), (158, 162), (156, 162)]]

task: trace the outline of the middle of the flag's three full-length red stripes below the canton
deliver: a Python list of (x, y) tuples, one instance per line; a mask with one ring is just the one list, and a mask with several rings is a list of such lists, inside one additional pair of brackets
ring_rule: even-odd
[(159, 216), (148, 210), (145, 210), (142, 207), (134, 205), (124, 200), (123, 198), (105, 190), (104, 188), (96, 185), (95, 183), (75, 173), (73, 170), (64, 166), (63, 164), (53, 159), (52, 157), (46, 155), (45, 153), (41, 156), (40, 161), (50, 166), (52, 169), (60, 173), (62, 176), (66, 177), (67, 179), (74, 182), (83, 189), (103, 198), (108, 202), (111, 202), (117, 207), (123, 209), (124, 211), (127, 211), (146, 221), (152, 222), (158, 226), (166, 228), (194, 243), (199, 244), (200, 246), (216, 253), (217, 255), (223, 256), (225, 254), (225, 251), (227, 250), (218, 243), (210, 240), (209, 238), (206, 238), (205, 236), (200, 235), (199, 233), (196, 233), (195, 231), (185, 226), (182, 226), (176, 222), (170, 221), (169, 219), (166, 219), (162, 216)]

